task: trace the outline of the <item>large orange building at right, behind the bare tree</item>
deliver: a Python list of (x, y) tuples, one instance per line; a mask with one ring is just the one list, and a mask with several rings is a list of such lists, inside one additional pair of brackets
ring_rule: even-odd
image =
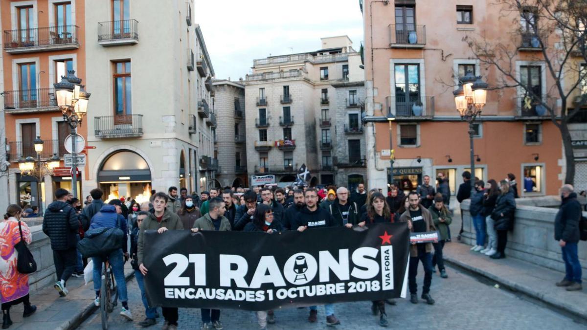
[[(365, 31), (365, 122), (367, 187), (389, 183), (390, 135), (396, 157), (394, 180), (405, 190), (424, 175), (448, 176), (451, 193), (470, 168), (468, 124), (454, 103), (457, 77), (471, 71), (490, 86), (502, 78), (495, 67), (475, 59), (465, 38), (487, 38), (514, 46), (512, 66), (544, 100), (553, 82), (540, 49), (530, 38), (516, 41), (512, 32), (524, 26), (519, 12), (500, 12), (485, 0), (362, 1)], [(505, 15), (505, 16), (504, 16)], [(552, 100), (556, 102), (556, 100)], [(556, 104), (556, 103), (554, 103)], [(526, 106), (521, 89), (490, 90), (475, 124), (475, 176), (487, 181), (513, 173), (521, 197), (556, 194), (564, 179), (559, 130)], [(392, 134), (386, 116), (395, 116)]]

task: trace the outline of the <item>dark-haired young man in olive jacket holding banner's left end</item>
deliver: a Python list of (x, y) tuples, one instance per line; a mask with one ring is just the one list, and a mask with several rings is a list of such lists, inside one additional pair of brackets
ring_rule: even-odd
[[(143, 276), (147, 276), (147, 268), (143, 264), (144, 260), (144, 231), (156, 230), (157, 233), (163, 234), (168, 229), (183, 230), (180, 217), (166, 208), (168, 197), (165, 193), (156, 193), (153, 198), (153, 210), (150, 211), (149, 217), (143, 220), (139, 227), (139, 239), (137, 240), (137, 258), (139, 259), (139, 270)], [(222, 203), (224, 204), (224, 203)], [(177, 307), (161, 307), (163, 317), (165, 318), (164, 329), (177, 329)]]

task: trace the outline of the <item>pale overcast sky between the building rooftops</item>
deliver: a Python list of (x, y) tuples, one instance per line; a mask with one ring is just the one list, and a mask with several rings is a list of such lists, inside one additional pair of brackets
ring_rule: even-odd
[(358, 0), (195, 0), (194, 15), (216, 79), (244, 79), (254, 59), (318, 50), (326, 36), (348, 35), (356, 50), (363, 39)]

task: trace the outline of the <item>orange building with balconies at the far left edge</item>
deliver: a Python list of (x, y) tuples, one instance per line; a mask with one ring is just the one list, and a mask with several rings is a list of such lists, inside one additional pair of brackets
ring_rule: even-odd
[[(85, 81), (85, 1), (2, 0), (0, 6), (6, 156), (11, 163), (8, 198), (10, 203), (43, 210), (53, 201), (56, 188), (71, 190), (71, 174), (63, 167), (69, 126), (56, 106), (53, 83), (68, 70)], [(86, 137), (85, 122), (77, 133)], [(21, 175), (18, 167), (27, 156), (37, 158), (36, 137), (44, 142), (41, 160), (56, 155), (61, 167), (52, 175), (43, 173), (41, 182)], [(82, 175), (83, 169), (79, 179)]]

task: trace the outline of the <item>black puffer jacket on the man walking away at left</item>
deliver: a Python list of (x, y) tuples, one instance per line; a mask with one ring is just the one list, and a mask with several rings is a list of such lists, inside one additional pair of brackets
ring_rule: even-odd
[(43, 233), (49, 236), (53, 250), (75, 248), (78, 231), (79, 220), (73, 207), (63, 201), (49, 204), (43, 217)]

